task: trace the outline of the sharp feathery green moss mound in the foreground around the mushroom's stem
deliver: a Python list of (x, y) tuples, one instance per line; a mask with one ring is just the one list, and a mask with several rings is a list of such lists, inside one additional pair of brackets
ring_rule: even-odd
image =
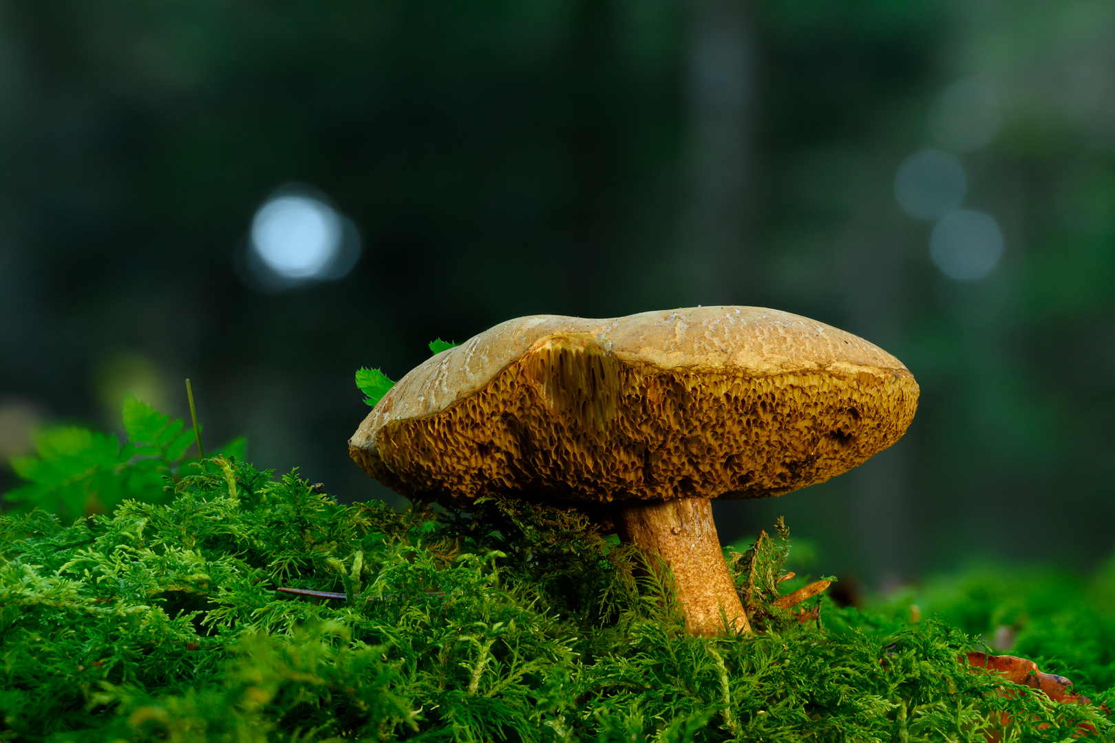
[(231, 457), (176, 478), (0, 517), (0, 741), (982, 741), (1002, 712), (1005, 740), (1112, 735), (997, 695), (969, 634), (899, 604), (799, 625), (769, 605), (786, 534), (729, 555), (762, 630), (707, 639), (575, 511), (342, 507)]

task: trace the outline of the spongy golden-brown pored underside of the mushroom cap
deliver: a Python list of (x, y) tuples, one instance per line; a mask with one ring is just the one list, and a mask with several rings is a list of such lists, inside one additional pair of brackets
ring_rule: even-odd
[(352, 458), (398, 492), (611, 501), (763, 498), (827, 480), (894, 443), (918, 385), (902, 370), (763, 377), (621, 361), (547, 339), (437, 414), (395, 420)]

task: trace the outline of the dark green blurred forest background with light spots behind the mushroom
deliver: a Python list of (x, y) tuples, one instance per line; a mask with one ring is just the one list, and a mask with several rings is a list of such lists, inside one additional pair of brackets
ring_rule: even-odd
[(190, 377), (212, 444), (391, 498), (348, 460), (358, 366), (763, 305), (922, 397), (856, 470), (718, 504), (724, 541), (784, 514), (873, 588), (1086, 569), (1115, 546), (1112, 39), (1104, 0), (0, 0), (0, 460), (119, 430), (127, 391), (188, 416)]

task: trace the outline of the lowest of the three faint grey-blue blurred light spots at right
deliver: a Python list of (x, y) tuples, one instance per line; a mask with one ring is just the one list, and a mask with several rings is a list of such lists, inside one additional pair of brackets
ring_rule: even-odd
[(995, 218), (982, 212), (949, 212), (933, 226), (929, 255), (949, 278), (976, 281), (999, 263), (1002, 232)]

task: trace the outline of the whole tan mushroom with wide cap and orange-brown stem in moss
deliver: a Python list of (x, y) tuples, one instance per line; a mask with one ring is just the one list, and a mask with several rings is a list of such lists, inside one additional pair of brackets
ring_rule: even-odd
[(712, 498), (780, 496), (894, 443), (918, 384), (844, 331), (707, 306), (501, 323), (411, 370), (349, 453), (399, 493), (603, 505), (673, 574), (687, 629), (749, 630)]

